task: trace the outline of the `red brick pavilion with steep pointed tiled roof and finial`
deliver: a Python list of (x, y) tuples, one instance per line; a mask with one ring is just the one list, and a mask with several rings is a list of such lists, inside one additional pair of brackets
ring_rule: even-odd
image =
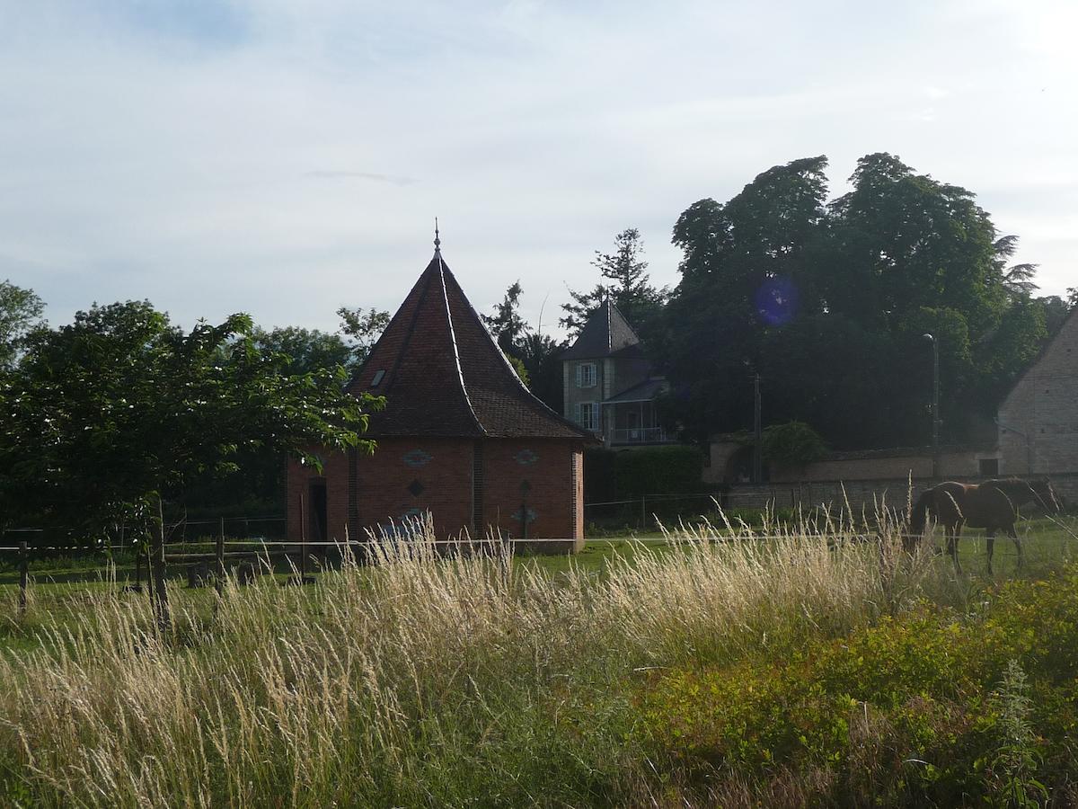
[(386, 397), (365, 435), (377, 449), (328, 453), (321, 475), (289, 461), (289, 536), (305, 519), (308, 540), (363, 538), (429, 511), (439, 539), (499, 531), (579, 549), (595, 438), (528, 392), (439, 244), (348, 386)]

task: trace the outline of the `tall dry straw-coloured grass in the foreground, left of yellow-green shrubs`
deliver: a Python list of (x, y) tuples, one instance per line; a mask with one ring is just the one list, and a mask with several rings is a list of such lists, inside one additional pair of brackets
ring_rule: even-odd
[(116, 586), (66, 618), (31, 605), (37, 645), (0, 657), (4, 789), (56, 807), (662, 803), (626, 684), (949, 588), (895, 537), (764, 533), (671, 531), (602, 575), (383, 538), (377, 564), (314, 587), (230, 581), (168, 636)]

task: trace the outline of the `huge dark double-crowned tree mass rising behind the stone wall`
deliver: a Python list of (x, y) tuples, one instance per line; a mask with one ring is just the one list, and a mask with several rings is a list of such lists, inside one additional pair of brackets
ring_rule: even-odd
[(675, 416), (697, 435), (750, 425), (759, 372), (765, 423), (805, 421), (839, 448), (921, 443), (931, 333), (944, 439), (976, 439), (1045, 339), (1035, 266), (1010, 263), (1015, 238), (965, 189), (877, 153), (827, 204), (825, 167), (776, 166), (678, 219), (685, 257), (666, 311)]

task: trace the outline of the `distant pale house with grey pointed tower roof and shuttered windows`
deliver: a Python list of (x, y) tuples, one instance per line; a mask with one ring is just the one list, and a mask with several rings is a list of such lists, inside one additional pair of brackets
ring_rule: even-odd
[(608, 298), (562, 355), (564, 415), (607, 447), (667, 443), (655, 398), (666, 387)]

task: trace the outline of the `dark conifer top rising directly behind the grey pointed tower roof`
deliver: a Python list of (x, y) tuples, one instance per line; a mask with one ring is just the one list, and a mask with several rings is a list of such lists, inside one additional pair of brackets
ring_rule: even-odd
[(562, 305), (565, 316), (559, 323), (569, 332), (570, 339), (580, 332), (591, 314), (610, 298), (637, 333), (645, 338), (645, 343), (648, 342), (647, 338), (650, 337), (669, 292), (651, 285), (648, 262), (642, 256), (644, 242), (636, 228), (630, 228), (614, 236), (613, 253), (595, 251), (592, 266), (599, 271), (605, 280), (596, 284), (590, 292), (569, 289), (571, 300)]

